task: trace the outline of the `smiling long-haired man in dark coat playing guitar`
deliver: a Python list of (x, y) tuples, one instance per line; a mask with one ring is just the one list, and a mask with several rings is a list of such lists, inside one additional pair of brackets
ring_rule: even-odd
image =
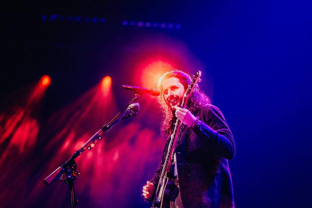
[[(181, 71), (165, 73), (159, 85), (159, 102), (165, 114), (162, 132), (171, 135), (176, 119), (182, 124), (181, 136), (175, 144), (174, 185), (170, 190), (170, 208), (232, 208), (233, 189), (228, 159), (235, 155), (232, 133), (221, 111), (210, 104), (198, 87), (180, 108), (183, 95), (191, 80)], [(143, 186), (143, 197), (151, 201), (158, 185), (162, 164), (154, 177)]]

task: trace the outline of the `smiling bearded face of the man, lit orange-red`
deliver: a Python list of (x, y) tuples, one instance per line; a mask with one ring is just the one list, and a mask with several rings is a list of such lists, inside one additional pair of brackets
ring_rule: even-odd
[(170, 77), (163, 80), (163, 95), (172, 110), (175, 110), (174, 106), (182, 104), (184, 92), (184, 87), (178, 78)]

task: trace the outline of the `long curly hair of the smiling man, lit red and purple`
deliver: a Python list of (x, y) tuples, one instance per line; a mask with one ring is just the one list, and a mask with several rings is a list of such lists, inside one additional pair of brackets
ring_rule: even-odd
[[(158, 97), (158, 102), (163, 111), (163, 123), (160, 126), (160, 131), (163, 136), (170, 135), (174, 128), (174, 124), (177, 118), (173, 114), (173, 110), (166, 103), (165, 97), (163, 94), (163, 80), (166, 80), (170, 77), (176, 77), (180, 80), (180, 83), (184, 86), (184, 91), (186, 91), (188, 85), (191, 83), (191, 77), (187, 73), (184, 73), (180, 70), (168, 71), (163, 74), (162, 80), (158, 85), (158, 89), (160, 90), (160, 95)], [(205, 104), (211, 104), (209, 97), (203, 93), (198, 86), (196, 86), (193, 90), (193, 93), (190, 95), (188, 99), (188, 103), (186, 108), (192, 113), (196, 114), (198, 109)]]

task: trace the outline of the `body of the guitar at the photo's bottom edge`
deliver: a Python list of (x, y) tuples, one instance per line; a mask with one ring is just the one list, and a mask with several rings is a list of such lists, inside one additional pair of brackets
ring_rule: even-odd
[(155, 197), (154, 201), (151, 204), (152, 208), (169, 208), (170, 207), (170, 190), (172, 188), (173, 184), (173, 168), (174, 165), (170, 166), (170, 171), (166, 172), (166, 175), (164, 177), (164, 180), (162, 182), (163, 189), (159, 189), (158, 193), (155, 194), (155, 196), (159, 196), (159, 192), (162, 191), (161, 198), (158, 199), (158, 197)]

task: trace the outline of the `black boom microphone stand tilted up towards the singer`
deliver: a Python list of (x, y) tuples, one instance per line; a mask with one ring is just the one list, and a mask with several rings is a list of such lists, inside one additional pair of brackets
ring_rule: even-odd
[[(120, 119), (115, 120), (113, 123), (111, 123), (124, 109), (126, 109), (133, 101), (137, 100), (139, 98), (140, 94), (135, 94), (132, 100), (127, 104), (109, 123), (105, 124), (97, 133), (95, 133), (79, 150), (76, 150), (74, 154), (64, 162), (60, 167), (58, 167), (54, 172), (52, 172), (48, 177), (46, 177), (43, 182), (48, 186), (52, 181), (55, 181), (61, 174), (62, 177), (60, 181), (62, 181), (62, 178), (64, 174), (66, 174), (66, 178), (64, 179), (64, 182), (66, 185), (68, 185), (70, 194), (71, 194), (71, 208), (74, 208), (75, 205), (78, 203), (78, 199), (75, 199), (74, 195), (74, 179), (77, 179), (77, 177), (80, 175), (80, 173), (76, 170), (77, 164), (75, 162), (75, 159), (82, 154), (86, 149), (90, 150), (92, 147), (95, 146), (99, 142), (99, 140), (102, 139), (105, 134), (107, 134), (111, 128), (113, 128), (120, 120), (129, 118), (132, 116), (135, 116), (137, 112), (132, 111), (131, 114), (127, 116), (122, 116)], [(127, 111), (124, 112), (124, 114)], [(111, 124), (110, 124), (111, 123)], [(109, 125), (110, 124), (110, 125)], [(103, 133), (107, 130), (107, 132), (103, 135)]]

